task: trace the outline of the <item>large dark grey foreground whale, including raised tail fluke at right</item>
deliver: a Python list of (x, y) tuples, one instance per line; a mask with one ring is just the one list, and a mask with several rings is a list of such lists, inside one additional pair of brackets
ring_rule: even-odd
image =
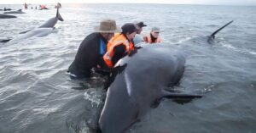
[[(214, 39), (225, 26), (209, 38)], [(102, 133), (124, 132), (163, 97), (201, 97), (171, 91), (170, 87), (183, 76), (184, 64), (183, 53), (163, 44), (144, 45), (132, 56), (120, 59), (113, 69), (114, 78), (99, 119)]]

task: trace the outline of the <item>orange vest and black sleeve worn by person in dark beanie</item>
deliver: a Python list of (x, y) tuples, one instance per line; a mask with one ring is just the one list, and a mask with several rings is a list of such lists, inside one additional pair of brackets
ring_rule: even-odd
[(109, 68), (113, 68), (120, 58), (123, 58), (132, 50), (134, 50), (133, 42), (130, 42), (124, 34), (116, 34), (108, 42), (107, 53), (105, 53), (103, 59)]

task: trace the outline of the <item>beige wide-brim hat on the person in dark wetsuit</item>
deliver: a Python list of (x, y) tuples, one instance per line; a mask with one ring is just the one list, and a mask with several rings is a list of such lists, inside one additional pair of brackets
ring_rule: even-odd
[(96, 32), (101, 32), (101, 33), (116, 33), (116, 32), (122, 32), (122, 29), (119, 28), (115, 20), (113, 19), (102, 19), (100, 25), (95, 26), (94, 30)]

